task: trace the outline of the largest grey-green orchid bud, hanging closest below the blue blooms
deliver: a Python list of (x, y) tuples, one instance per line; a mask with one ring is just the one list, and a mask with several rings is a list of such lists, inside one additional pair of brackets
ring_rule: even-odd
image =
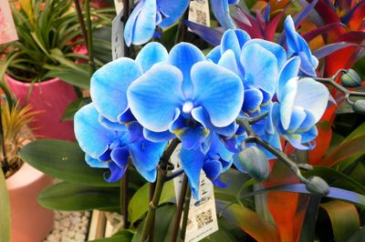
[(256, 146), (249, 146), (238, 154), (238, 162), (255, 180), (266, 180), (269, 165), (265, 153)]

